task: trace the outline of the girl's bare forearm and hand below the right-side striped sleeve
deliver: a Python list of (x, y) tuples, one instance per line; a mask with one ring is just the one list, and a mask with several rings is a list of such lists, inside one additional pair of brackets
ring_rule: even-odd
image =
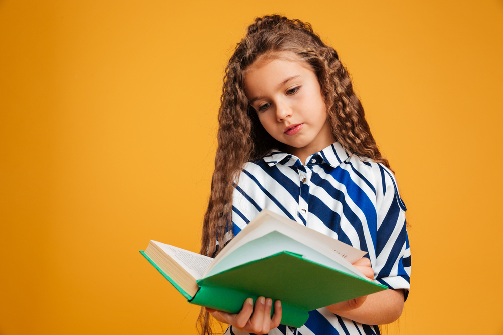
[[(354, 265), (368, 278), (374, 278), (374, 270), (372, 270), (368, 258), (362, 258)], [(400, 317), (403, 304), (403, 289), (388, 289), (357, 299), (336, 303), (326, 308), (334, 314), (359, 323), (388, 324)]]

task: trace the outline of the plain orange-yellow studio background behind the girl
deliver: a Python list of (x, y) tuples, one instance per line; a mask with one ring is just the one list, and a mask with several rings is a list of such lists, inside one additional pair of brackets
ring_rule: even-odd
[(400, 334), (503, 334), (501, 1), (0, 2), (0, 334), (194, 334), (138, 250), (197, 251), (223, 67), (255, 16), (352, 74), (412, 227)]

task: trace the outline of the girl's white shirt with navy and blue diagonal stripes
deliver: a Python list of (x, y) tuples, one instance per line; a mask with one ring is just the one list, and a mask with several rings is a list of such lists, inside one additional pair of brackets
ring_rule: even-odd
[[(374, 280), (393, 289), (410, 288), (410, 249), (405, 204), (394, 175), (382, 164), (348, 154), (339, 143), (309, 156), (271, 150), (247, 163), (233, 194), (232, 223), (239, 234), (267, 208), (299, 224), (367, 251)], [(313, 278), (315, 280), (315, 278)], [(301, 328), (283, 325), (269, 335), (379, 334), (320, 308), (309, 312)], [(230, 326), (225, 334), (247, 334)]]

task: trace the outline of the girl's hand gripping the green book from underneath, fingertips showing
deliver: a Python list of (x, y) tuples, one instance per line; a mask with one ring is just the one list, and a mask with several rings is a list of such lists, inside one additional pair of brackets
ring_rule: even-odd
[(205, 307), (211, 315), (220, 322), (228, 323), (239, 331), (251, 332), (257, 335), (267, 334), (269, 330), (280, 325), (281, 321), (281, 302), (274, 302), (274, 314), (271, 318), (272, 299), (259, 297), (255, 301), (255, 309), (253, 300), (248, 298), (243, 303), (243, 308), (239, 314), (231, 314), (222, 312), (213, 308)]

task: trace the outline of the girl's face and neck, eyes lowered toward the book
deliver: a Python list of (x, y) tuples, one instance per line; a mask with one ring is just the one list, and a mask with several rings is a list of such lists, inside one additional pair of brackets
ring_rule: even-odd
[(305, 162), (335, 141), (318, 78), (294, 53), (272, 56), (247, 69), (247, 97), (266, 131)]

